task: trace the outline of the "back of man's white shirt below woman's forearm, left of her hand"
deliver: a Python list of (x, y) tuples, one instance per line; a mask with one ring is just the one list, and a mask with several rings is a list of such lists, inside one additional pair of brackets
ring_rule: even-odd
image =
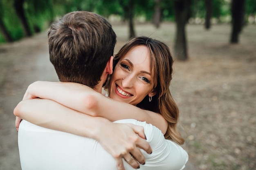
[(115, 170), (115, 160), (94, 139), (22, 120), (18, 132), (22, 170)]

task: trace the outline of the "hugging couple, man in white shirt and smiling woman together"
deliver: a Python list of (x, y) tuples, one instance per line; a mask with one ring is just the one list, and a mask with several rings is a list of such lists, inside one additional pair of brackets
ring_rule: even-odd
[(32, 83), (14, 109), (22, 170), (185, 167), (166, 44), (133, 37), (114, 56), (111, 24), (86, 11), (54, 22), (48, 43), (60, 82)]

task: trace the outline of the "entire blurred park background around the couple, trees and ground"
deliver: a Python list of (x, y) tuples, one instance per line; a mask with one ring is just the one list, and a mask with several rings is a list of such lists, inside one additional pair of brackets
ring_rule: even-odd
[(171, 93), (186, 170), (256, 170), (255, 0), (0, 0), (0, 170), (20, 170), (13, 109), (34, 81), (58, 81), (49, 25), (71, 11), (103, 15), (117, 33), (171, 49)]

